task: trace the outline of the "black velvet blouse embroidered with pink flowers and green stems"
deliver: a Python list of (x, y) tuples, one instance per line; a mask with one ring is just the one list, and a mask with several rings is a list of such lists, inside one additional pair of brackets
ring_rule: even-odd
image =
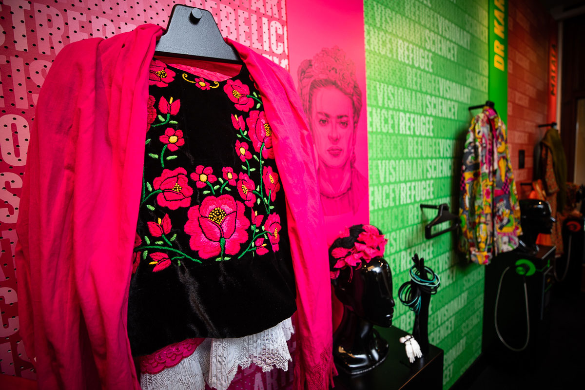
[(259, 91), (245, 66), (225, 81), (182, 69), (150, 65), (128, 310), (134, 355), (259, 333), (296, 310), (284, 193)]

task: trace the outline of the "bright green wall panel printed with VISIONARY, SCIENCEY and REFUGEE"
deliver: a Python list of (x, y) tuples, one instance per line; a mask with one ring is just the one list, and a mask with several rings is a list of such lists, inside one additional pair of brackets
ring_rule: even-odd
[[(415, 252), (441, 277), (429, 338), (445, 350), (449, 388), (481, 352), (484, 270), (453, 251), (451, 234), (426, 240), (433, 215), (419, 205), (458, 205), (467, 107), (487, 99), (488, 4), (366, 1), (364, 12), (370, 220), (388, 238), (395, 295)], [(412, 330), (414, 315), (396, 309), (394, 325)]]

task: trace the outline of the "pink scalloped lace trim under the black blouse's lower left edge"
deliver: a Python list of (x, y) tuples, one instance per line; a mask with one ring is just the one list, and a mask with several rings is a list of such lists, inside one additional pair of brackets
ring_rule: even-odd
[(153, 354), (140, 356), (140, 372), (158, 374), (165, 368), (174, 367), (186, 357), (190, 357), (205, 339), (187, 339), (171, 344)]

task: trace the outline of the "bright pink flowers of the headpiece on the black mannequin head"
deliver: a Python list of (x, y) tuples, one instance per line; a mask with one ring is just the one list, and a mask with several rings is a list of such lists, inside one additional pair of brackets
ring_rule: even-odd
[[(356, 226), (359, 227), (359, 225)], [(336, 260), (335, 265), (333, 265), (333, 271), (331, 271), (332, 279), (338, 278), (340, 271), (345, 267), (349, 267), (349, 280), (351, 281), (354, 267), (357, 270), (362, 267), (363, 261), (367, 264), (375, 257), (384, 256), (384, 249), (386, 249), (386, 243), (388, 242), (384, 238), (384, 234), (373, 225), (363, 225), (362, 229), (363, 232), (357, 236), (353, 247), (336, 247), (331, 251), (331, 256)], [(350, 232), (346, 227), (340, 232), (338, 239), (346, 239), (349, 237)]]

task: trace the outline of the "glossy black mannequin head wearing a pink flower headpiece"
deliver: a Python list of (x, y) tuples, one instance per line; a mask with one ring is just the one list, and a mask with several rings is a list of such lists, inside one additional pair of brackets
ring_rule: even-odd
[(373, 325), (390, 327), (394, 313), (392, 274), (382, 257), (386, 240), (377, 227), (354, 225), (333, 241), (329, 264), (343, 319), (333, 336), (333, 358), (343, 371), (372, 370), (388, 353)]

